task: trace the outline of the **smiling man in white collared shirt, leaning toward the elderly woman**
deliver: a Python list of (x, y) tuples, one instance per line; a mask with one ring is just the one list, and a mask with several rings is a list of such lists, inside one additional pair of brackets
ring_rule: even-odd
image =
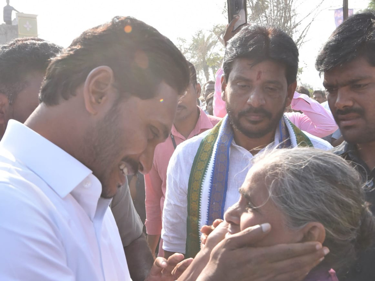
[(130, 17), (52, 59), (40, 105), (0, 142), (1, 279), (130, 280), (108, 206), (150, 169), (188, 83), (181, 52)]

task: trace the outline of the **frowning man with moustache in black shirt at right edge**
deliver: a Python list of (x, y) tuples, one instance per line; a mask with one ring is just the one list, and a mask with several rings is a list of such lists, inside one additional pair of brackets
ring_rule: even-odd
[[(321, 49), (316, 68), (333, 117), (344, 142), (334, 152), (351, 161), (366, 182), (366, 199), (375, 213), (375, 14), (359, 13), (344, 21)], [(359, 253), (350, 269), (338, 272), (340, 281), (373, 281), (375, 250)]]

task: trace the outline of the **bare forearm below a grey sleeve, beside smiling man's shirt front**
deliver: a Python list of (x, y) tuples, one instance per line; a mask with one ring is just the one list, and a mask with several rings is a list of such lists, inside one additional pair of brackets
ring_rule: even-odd
[(144, 234), (124, 247), (127, 266), (133, 281), (143, 281), (150, 271), (154, 259)]

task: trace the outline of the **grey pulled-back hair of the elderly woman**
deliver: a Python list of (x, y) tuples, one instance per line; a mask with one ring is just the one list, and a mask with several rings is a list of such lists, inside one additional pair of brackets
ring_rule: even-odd
[(330, 254), (320, 268), (346, 270), (375, 237), (363, 179), (341, 157), (314, 148), (272, 149), (254, 157), (269, 196), (292, 229), (320, 222)]

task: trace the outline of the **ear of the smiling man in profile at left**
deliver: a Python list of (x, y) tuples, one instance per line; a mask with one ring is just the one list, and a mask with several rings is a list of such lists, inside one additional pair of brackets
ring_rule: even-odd
[(90, 114), (97, 114), (103, 105), (113, 98), (112, 95), (117, 94), (113, 83), (114, 74), (108, 66), (98, 66), (87, 75), (83, 86), (83, 97), (86, 110)]

